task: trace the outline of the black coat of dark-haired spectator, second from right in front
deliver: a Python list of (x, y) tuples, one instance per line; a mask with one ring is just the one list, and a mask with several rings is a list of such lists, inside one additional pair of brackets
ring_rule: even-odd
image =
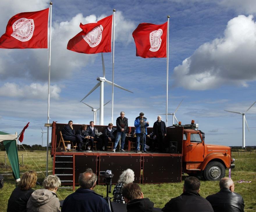
[(182, 195), (172, 198), (165, 204), (162, 211), (211, 211), (211, 204), (199, 193), (186, 191)]

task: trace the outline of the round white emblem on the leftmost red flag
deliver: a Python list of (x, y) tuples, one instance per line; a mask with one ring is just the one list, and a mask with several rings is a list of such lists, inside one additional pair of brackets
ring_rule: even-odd
[(33, 36), (34, 26), (33, 19), (21, 18), (13, 23), (13, 33), (11, 36), (19, 41), (28, 41)]

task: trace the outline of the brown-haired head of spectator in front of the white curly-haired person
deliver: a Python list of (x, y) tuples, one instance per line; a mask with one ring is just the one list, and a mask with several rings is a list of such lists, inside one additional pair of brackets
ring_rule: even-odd
[(130, 182), (123, 187), (122, 194), (129, 201), (140, 199), (143, 195), (140, 186), (133, 182)]

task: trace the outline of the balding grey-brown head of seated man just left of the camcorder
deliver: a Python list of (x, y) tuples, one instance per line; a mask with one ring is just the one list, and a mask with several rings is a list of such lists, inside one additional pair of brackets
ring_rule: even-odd
[(97, 176), (91, 168), (87, 168), (84, 173), (81, 173), (78, 178), (79, 185), (84, 189), (91, 189), (95, 186)]

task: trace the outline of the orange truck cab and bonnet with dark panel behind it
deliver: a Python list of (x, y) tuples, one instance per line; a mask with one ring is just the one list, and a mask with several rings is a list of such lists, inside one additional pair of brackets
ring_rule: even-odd
[[(198, 124), (173, 125), (167, 128), (170, 152), (182, 150), (182, 171), (205, 180), (220, 180), (225, 170), (234, 168), (231, 147), (205, 143), (205, 133)], [(181, 142), (182, 140), (182, 142)], [(176, 143), (177, 142), (177, 143)]]

